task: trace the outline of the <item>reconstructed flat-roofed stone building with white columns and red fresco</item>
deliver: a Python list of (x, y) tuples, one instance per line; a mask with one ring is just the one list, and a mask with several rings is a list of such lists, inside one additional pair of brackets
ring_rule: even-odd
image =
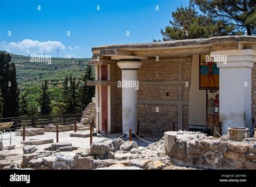
[(139, 131), (149, 133), (170, 131), (172, 123), (176, 130), (192, 126), (215, 126), (223, 134), (228, 126), (252, 130), (254, 36), (109, 45), (93, 47), (92, 52), (96, 78), (86, 84), (96, 87), (100, 132), (105, 131), (104, 120), (107, 131), (123, 133), (129, 128), (137, 132), (137, 121)]

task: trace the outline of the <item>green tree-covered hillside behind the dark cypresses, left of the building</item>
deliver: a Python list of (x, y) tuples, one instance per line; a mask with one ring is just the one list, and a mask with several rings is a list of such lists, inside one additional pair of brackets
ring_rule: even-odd
[[(85, 76), (86, 65), (90, 59), (52, 57), (51, 63), (48, 63), (31, 62), (30, 56), (10, 55), (12, 62), (15, 62), (16, 65), (16, 77), (18, 88), (20, 89), (20, 116), (42, 115), (41, 112), (38, 112), (38, 107), (41, 107), (42, 84), (45, 80), (48, 81), (49, 86), (47, 92), (50, 96), (50, 114), (65, 113), (66, 107), (69, 104), (67, 98), (71, 97), (70, 92), (69, 95), (66, 95), (63, 88), (67, 75), (76, 78), (76, 93), (75, 96), (73, 96), (75, 97), (75, 101), (72, 103), (76, 105), (76, 110), (73, 110), (72, 113), (82, 113), (84, 110), (82, 98), (87, 97), (83, 94), (83, 77)], [(94, 76), (94, 70), (92, 69), (92, 80)], [(93, 90), (91, 92), (94, 94)], [(89, 100), (91, 100), (91, 98)]]

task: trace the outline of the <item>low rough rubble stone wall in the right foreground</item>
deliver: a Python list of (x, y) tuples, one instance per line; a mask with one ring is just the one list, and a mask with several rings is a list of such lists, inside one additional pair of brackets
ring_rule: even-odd
[(166, 132), (165, 150), (173, 164), (204, 169), (256, 169), (256, 138), (242, 142), (200, 132)]

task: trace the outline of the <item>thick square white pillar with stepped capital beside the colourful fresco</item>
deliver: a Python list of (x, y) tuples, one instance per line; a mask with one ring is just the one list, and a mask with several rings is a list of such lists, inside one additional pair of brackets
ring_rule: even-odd
[[(251, 79), (256, 52), (251, 49), (212, 52), (219, 67), (219, 103), (222, 133), (227, 127), (251, 130)], [(221, 60), (222, 59), (222, 60)]]

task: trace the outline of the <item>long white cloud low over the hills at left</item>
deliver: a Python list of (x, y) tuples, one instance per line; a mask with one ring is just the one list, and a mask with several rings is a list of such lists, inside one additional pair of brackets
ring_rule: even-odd
[(66, 47), (59, 41), (38, 41), (24, 39), (22, 41), (10, 42), (6, 44), (5, 41), (1, 42), (2, 48), (9, 53), (30, 55), (31, 53), (43, 53), (64, 50)]

